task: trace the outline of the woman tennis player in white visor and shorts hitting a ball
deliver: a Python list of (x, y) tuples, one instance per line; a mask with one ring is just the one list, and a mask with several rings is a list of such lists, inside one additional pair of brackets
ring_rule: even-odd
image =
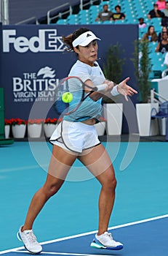
[[(42, 247), (33, 234), (33, 222), (49, 197), (55, 195), (63, 185), (76, 158), (88, 168), (101, 185), (98, 232), (90, 245), (103, 249), (123, 248), (123, 244), (115, 241), (111, 233), (108, 233), (108, 223), (115, 199), (116, 178), (111, 159), (97, 138), (94, 124), (102, 111), (103, 94), (122, 94), (127, 99), (127, 96), (132, 96), (137, 91), (127, 85), (129, 78), (117, 86), (113, 81), (105, 80), (97, 63), (97, 40), (100, 39), (86, 28), (78, 29), (73, 34), (63, 37), (65, 45), (68, 45), (68, 48), (78, 56), (69, 76), (77, 76), (91, 87), (97, 86), (98, 88), (103, 83), (106, 83), (107, 86), (102, 91), (94, 91), (87, 97), (86, 101), (88, 100), (89, 104), (92, 104), (89, 116), (81, 105), (80, 113), (77, 109), (72, 115), (63, 117), (62, 123), (58, 125), (50, 138), (53, 150), (47, 180), (33, 196), (25, 223), (17, 233), (17, 237), (23, 241), (25, 248), (34, 254), (41, 252)], [(87, 94), (89, 89), (86, 90)]]

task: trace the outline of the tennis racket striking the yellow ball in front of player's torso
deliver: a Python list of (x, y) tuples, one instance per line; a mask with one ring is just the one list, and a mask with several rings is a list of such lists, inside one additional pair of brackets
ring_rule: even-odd
[[(81, 107), (85, 99), (94, 91), (102, 91), (107, 84), (103, 83), (97, 87), (91, 87), (82, 82), (76, 76), (70, 76), (60, 80), (55, 90), (55, 108), (61, 116), (68, 116)], [(89, 92), (86, 93), (86, 89)]]

